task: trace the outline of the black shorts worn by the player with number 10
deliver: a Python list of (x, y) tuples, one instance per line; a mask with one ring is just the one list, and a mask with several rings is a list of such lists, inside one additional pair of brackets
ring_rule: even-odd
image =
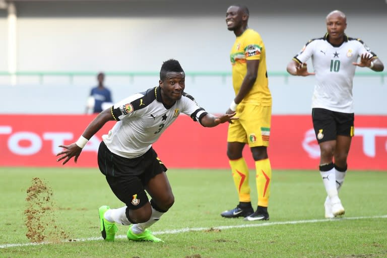
[(336, 140), (338, 135), (348, 137), (353, 137), (354, 135), (354, 113), (313, 108), (312, 120), (318, 143)]

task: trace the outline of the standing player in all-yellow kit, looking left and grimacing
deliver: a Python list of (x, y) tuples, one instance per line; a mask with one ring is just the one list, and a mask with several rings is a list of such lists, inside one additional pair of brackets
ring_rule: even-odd
[[(247, 7), (232, 5), (227, 9), (227, 28), (236, 39), (231, 48), (232, 83), (235, 97), (226, 113), (236, 112), (238, 120), (228, 127), (227, 157), (238, 193), (236, 208), (221, 213), (225, 218), (269, 220), (268, 204), (272, 169), (267, 153), (270, 138), (272, 96), (268, 87), (266, 49), (259, 33), (247, 27)], [(257, 209), (251, 205), (249, 170), (242, 156), (248, 144), (255, 161), (258, 193)]]

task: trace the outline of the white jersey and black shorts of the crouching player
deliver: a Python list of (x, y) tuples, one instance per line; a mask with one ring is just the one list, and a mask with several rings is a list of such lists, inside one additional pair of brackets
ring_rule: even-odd
[(186, 93), (173, 105), (164, 105), (160, 90), (158, 86), (114, 104), (111, 114), (117, 123), (102, 136), (99, 147), (99, 168), (117, 198), (130, 209), (148, 203), (144, 186), (167, 170), (152, 144), (180, 113), (198, 122), (207, 114)]

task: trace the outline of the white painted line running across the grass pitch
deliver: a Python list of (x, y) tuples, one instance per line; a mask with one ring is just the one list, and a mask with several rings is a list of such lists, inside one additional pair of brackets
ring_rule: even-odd
[[(233, 225), (233, 226), (217, 226), (217, 227), (206, 227), (206, 228), (181, 228), (181, 229), (171, 229), (164, 231), (155, 231), (154, 235), (160, 234), (178, 234), (189, 231), (203, 231), (210, 229), (231, 229), (231, 228), (249, 228), (249, 227), (263, 227), (263, 226), (275, 226), (275, 225), (288, 225), (288, 224), (304, 224), (304, 223), (317, 223), (317, 222), (337, 222), (343, 220), (361, 220), (361, 219), (386, 219), (387, 215), (381, 216), (370, 216), (370, 217), (352, 217), (352, 218), (335, 218), (335, 219), (319, 219), (319, 220), (295, 220), (295, 221), (279, 221), (279, 222), (263, 222), (259, 224), (243, 224), (243, 225)], [(126, 235), (117, 235), (115, 238), (126, 238)], [(89, 237), (89, 238), (78, 238), (69, 240), (63, 240), (62, 242), (72, 243), (72, 242), (84, 242), (84, 241), (94, 241), (94, 240), (102, 240), (102, 236), (99, 237)], [(30, 246), (30, 245), (43, 245), (50, 244), (52, 242), (40, 242), (40, 243), (18, 243), (18, 244), (2, 244), (0, 248), (9, 248), (9, 247), (19, 247), (19, 246)]]

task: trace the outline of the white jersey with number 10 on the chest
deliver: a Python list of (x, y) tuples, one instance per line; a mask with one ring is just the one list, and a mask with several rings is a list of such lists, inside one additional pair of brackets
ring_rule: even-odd
[(352, 63), (367, 52), (376, 56), (363, 41), (346, 35), (341, 45), (332, 45), (328, 33), (306, 43), (293, 60), (303, 63), (312, 58), (316, 77), (312, 108), (354, 113), (352, 87), (356, 66)]

